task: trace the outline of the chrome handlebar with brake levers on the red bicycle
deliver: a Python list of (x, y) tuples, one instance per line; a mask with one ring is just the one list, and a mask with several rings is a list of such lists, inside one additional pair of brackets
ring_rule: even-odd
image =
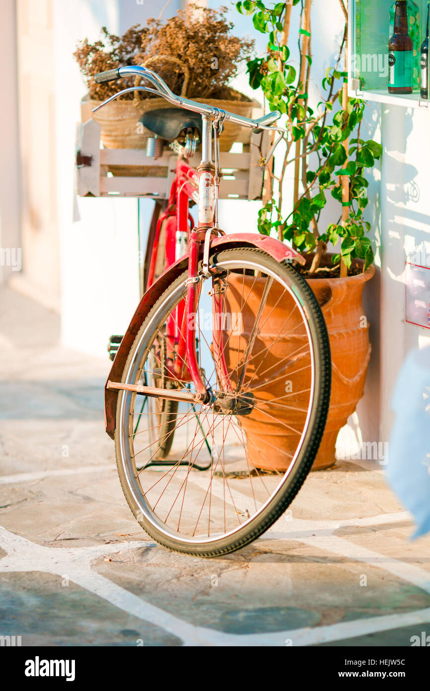
[(157, 96), (162, 96), (166, 99), (166, 101), (174, 106), (186, 108), (186, 110), (193, 111), (194, 113), (200, 113), (200, 115), (208, 117), (210, 120), (222, 119), (223, 121), (233, 122), (234, 124), (242, 127), (248, 127), (257, 132), (263, 129), (271, 129), (279, 132), (280, 137), (277, 138), (271, 148), (271, 151), (269, 151), (265, 164), (267, 164), (271, 159), (277, 144), (279, 144), (284, 138), (284, 130), (280, 129), (279, 127), (271, 126), (273, 125), (273, 122), (276, 122), (276, 120), (281, 117), (281, 113), (279, 111), (273, 111), (273, 113), (268, 113), (267, 115), (263, 115), (262, 117), (252, 120), (251, 118), (244, 117), (243, 115), (222, 111), (215, 106), (197, 103), (196, 101), (192, 101), (188, 98), (175, 95), (172, 91), (170, 91), (170, 88), (168, 88), (163, 79), (159, 77), (157, 73), (153, 72), (153, 70), (149, 70), (147, 67), (139, 67), (137, 65), (118, 67), (114, 70), (108, 70), (107, 72), (99, 72), (97, 75), (95, 75), (94, 79), (96, 84), (104, 84), (105, 82), (115, 82), (116, 79), (124, 79), (125, 77), (141, 77), (142, 79), (146, 79), (148, 82), (150, 82), (150, 84), (152, 84), (155, 88), (150, 88), (149, 86), (130, 86), (129, 88), (125, 88), (113, 96), (110, 96), (110, 98), (96, 106), (96, 108), (92, 108), (92, 113), (98, 111), (99, 108), (103, 108), (103, 106), (106, 106), (106, 104), (115, 100), (119, 96), (130, 93), (131, 91), (149, 91), (150, 93), (157, 94)]

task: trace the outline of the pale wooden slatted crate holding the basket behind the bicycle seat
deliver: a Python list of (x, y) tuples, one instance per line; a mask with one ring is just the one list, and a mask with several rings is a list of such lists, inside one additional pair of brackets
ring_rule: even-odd
[[(175, 176), (177, 156), (165, 150), (160, 158), (149, 158), (144, 149), (101, 149), (101, 126), (90, 118), (77, 128), (77, 194), (81, 197), (146, 197), (166, 199), (170, 193)], [(270, 148), (270, 133), (263, 131), (251, 135), (250, 144), (243, 144), (242, 153), (221, 152), (222, 179), (219, 183), (220, 199), (262, 198), (264, 168), (260, 166), (261, 157)], [(189, 160), (197, 167), (199, 155)], [(110, 167), (163, 167), (167, 169), (164, 177), (115, 176)]]

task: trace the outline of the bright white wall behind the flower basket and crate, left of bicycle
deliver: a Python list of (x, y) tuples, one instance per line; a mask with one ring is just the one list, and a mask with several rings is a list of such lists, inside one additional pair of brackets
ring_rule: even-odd
[[(106, 355), (111, 334), (122, 334), (139, 301), (137, 200), (75, 194), (75, 131), (86, 86), (72, 57), (77, 41), (99, 37), (101, 26), (121, 33), (158, 16), (164, 0), (55, 1), (56, 144), (61, 238), (62, 341)], [(178, 3), (166, 12), (175, 14)], [(153, 202), (146, 202), (148, 220)]]

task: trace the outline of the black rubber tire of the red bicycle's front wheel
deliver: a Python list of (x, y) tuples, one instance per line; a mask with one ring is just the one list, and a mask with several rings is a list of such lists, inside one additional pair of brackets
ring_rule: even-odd
[[(217, 263), (219, 263), (221, 260), (240, 262), (244, 261), (245, 258), (247, 258), (249, 261), (251, 261), (252, 258), (253, 261), (260, 262), (263, 267), (276, 272), (278, 276), (281, 278), (283, 277), (285, 281), (288, 281), (289, 285), (293, 286), (295, 294), (297, 294), (298, 299), (300, 299), (300, 303), (303, 305), (303, 309), (306, 311), (312, 336), (313, 348), (315, 351), (315, 401), (313, 402), (311, 418), (306, 431), (306, 436), (304, 437), (304, 443), (302, 444), (302, 448), (300, 448), (300, 453), (298, 453), (297, 458), (295, 459), (293, 468), (291, 468), (288, 476), (285, 477), (282, 484), (280, 484), (279, 490), (277, 490), (276, 493), (271, 496), (271, 500), (268, 501), (264, 509), (262, 509), (262, 511), (258, 513), (255, 518), (251, 520), (251, 522), (245, 524), (242, 530), (238, 529), (234, 536), (226, 535), (222, 538), (219, 538), (219, 540), (214, 540), (211, 542), (211, 544), (190, 544), (189, 542), (182, 541), (178, 538), (170, 538), (170, 536), (166, 536), (166, 534), (160, 531), (155, 524), (148, 521), (143, 515), (141, 515), (141, 512), (139, 515), (139, 505), (137, 504), (135, 495), (128, 484), (126, 467), (124, 466), (124, 460), (121, 455), (121, 402), (124, 399), (124, 396), (126, 396), (126, 392), (119, 393), (117, 404), (117, 427), (115, 431), (117, 468), (121, 487), (131, 511), (135, 515), (135, 518), (137, 518), (142, 529), (144, 529), (144, 531), (146, 531), (151, 538), (159, 542), (159, 544), (164, 545), (164, 547), (174, 551), (180, 551), (182, 553), (205, 558), (222, 556), (248, 545), (257, 537), (261, 536), (262, 533), (264, 533), (278, 518), (280, 518), (282, 513), (284, 513), (287, 507), (289, 507), (297, 495), (297, 492), (302, 487), (302, 484), (311, 469), (313, 460), (315, 459), (315, 455), (317, 454), (317, 450), (320, 446), (322, 434), (324, 433), (326, 416), (329, 410), (331, 387), (330, 345), (324, 322), (324, 316), (322, 315), (320, 305), (317, 303), (315, 295), (304, 278), (293, 268), (292, 265), (289, 263), (277, 263), (271, 256), (268, 256), (268, 254), (261, 249), (246, 246), (239, 247), (237, 249), (226, 249), (214, 254), (211, 258), (211, 261), (215, 261)], [(166, 299), (168, 299), (170, 294), (173, 294), (175, 290), (178, 290), (178, 286), (181, 283), (184, 283), (185, 279), (186, 272), (179, 276), (177, 280), (166, 289), (164, 294), (159, 297), (155, 305), (150, 310), (150, 313), (142, 324), (128, 355), (122, 381), (127, 381), (130, 366), (135, 357), (137, 357), (136, 350), (139, 347), (139, 343), (141, 343), (141, 340), (145, 336), (146, 331), (148, 328), (150, 328), (151, 323), (155, 320), (159, 310), (161, 310), (162, 306), (166, 304)]]

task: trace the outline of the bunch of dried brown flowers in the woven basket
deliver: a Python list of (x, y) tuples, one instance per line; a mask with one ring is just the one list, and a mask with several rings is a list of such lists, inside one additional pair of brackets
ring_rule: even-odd
[[(133, 79), (121, 79), (108, 84), (95, 84), (94, 75), (123, 65), (148, 65), (164, 79), (174, 93), (181, 93), (184, 86), (184, 69), (188, 68), (186, 84), (188, 98), (228, 98), (227, 86), (237, 73), (237, 65), (249, 59), (253, 51), (253, 39), (238, 38), (231, 34), (233, 23), (226, 20), (227, 8), (217, 10), (188, 5), (166, 22), (148, 19), (141, 28), (132, 26), (124, 36), (101, 30), (101, 39), (90, 44), (81, 41), (74, 55), (81, 73), (86, 77), (90, 97), (104, 100), (117, 93), (119, 88), (133, 86)], [(163, 56), (177, 61), (167, 62)], [(124, 98), (133, 100), (130, 92)], [(151, 97), (144, 91), (140, 98)]]

